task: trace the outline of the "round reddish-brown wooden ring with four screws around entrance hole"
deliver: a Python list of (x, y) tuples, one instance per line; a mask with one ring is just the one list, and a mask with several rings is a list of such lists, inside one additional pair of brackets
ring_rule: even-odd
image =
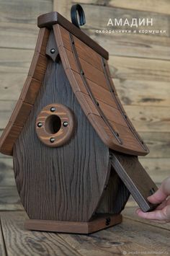
[(62, 104), (43, 107), (37, 116), (35, 130), (38, 138), (47, 146), (62, 146), (73, 135), (73, 112)]

